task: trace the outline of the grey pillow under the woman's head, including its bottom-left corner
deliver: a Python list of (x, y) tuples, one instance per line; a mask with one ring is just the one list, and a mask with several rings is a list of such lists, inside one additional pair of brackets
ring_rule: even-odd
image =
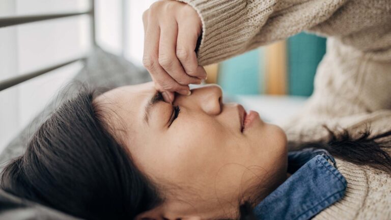
[[(74, 77), (66, 91), (60, 96), (71, 98), (77, 94), (80, 83), (87, 84), (89, 88), (115, 88), (124, 85), (140, 84), (150, 81), (148, 71), (137, 68), (125, 59), (105, 52), (97, 47), (86, 60), (85, 66)], [(66, 92), (66, 94), (64, 94)], [(61, 94), (62, 93), (62, 94)], [(34, 120), (27, 125), (20, 134), (5, 148), (0, 155), (0, 165), (20, 156), (26, 149), (31, 135), (40, 126), (53, 110), (64, 100), (52, 100)], [(1, 168), (0, 168), (1, 171)], [(0, 219), (79, 219), (34, 202), (22, 200), (0, 189)]]

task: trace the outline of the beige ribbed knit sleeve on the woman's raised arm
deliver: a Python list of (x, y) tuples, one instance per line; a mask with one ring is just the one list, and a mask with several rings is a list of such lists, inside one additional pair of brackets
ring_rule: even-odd
[(178, 0), (203, 24), (200, 65), (226, 60), (326, 21), (347, 0)]

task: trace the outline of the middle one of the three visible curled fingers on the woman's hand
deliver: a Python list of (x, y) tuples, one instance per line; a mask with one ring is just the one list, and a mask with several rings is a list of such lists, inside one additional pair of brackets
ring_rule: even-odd
[(160, 66), (180, 85), (200, 84), (201, 79), (186, 74), (175, 54), (178, 33), (175, 19), (167, 17), (160, 24), (160, 29), (158, 53)]

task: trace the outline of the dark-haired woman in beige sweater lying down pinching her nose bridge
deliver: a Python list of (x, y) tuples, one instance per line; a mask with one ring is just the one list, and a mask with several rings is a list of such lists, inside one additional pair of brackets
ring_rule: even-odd
[[(8, 165), (2, 188), (88, 219), (389, 219), (391, 3), (185, 2), (144, 14), (144, 63), (161, 93), (151, 84), (80, 93)], [(198, 65), (302, 30), (329, 38), (288, 140), (325, 137), (323, 124), (355, 139), (331, 135), (288, 154), (282, 129), (222, 104), (219, 88), (189, 95), (205, 78)], [(373, 135), (359, 135), (365, 124)]]

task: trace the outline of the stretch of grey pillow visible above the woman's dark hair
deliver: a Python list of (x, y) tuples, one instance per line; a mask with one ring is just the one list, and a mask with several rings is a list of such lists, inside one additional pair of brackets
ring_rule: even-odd
[[(122, 57), (105, 52), (101, 48), (95, 48), (86, 60), (85, 66), (72, 80), (75, 84), (60, 94), (59, 97), (66, 95), (67, 98), (76, 94), (80, 88), (80, 83), (89, 85), (91, 88), (115, 88), (125, 85), (141, 84), (150, 81), (151, 77), (147, 70), (138, 68)], [(64, 94), (64, 93), (67, 94)], [(12, 158), (20, 156), (26, 149), (34, 131), (47, 118), (53, 110), (64, 100), (52, 100), (45, 109), (38, 114), (33, 121), (27, 125), (18, 136), (0, 154), (0, 166)], [(0, 168), (1, 171), (1, 168)]]

